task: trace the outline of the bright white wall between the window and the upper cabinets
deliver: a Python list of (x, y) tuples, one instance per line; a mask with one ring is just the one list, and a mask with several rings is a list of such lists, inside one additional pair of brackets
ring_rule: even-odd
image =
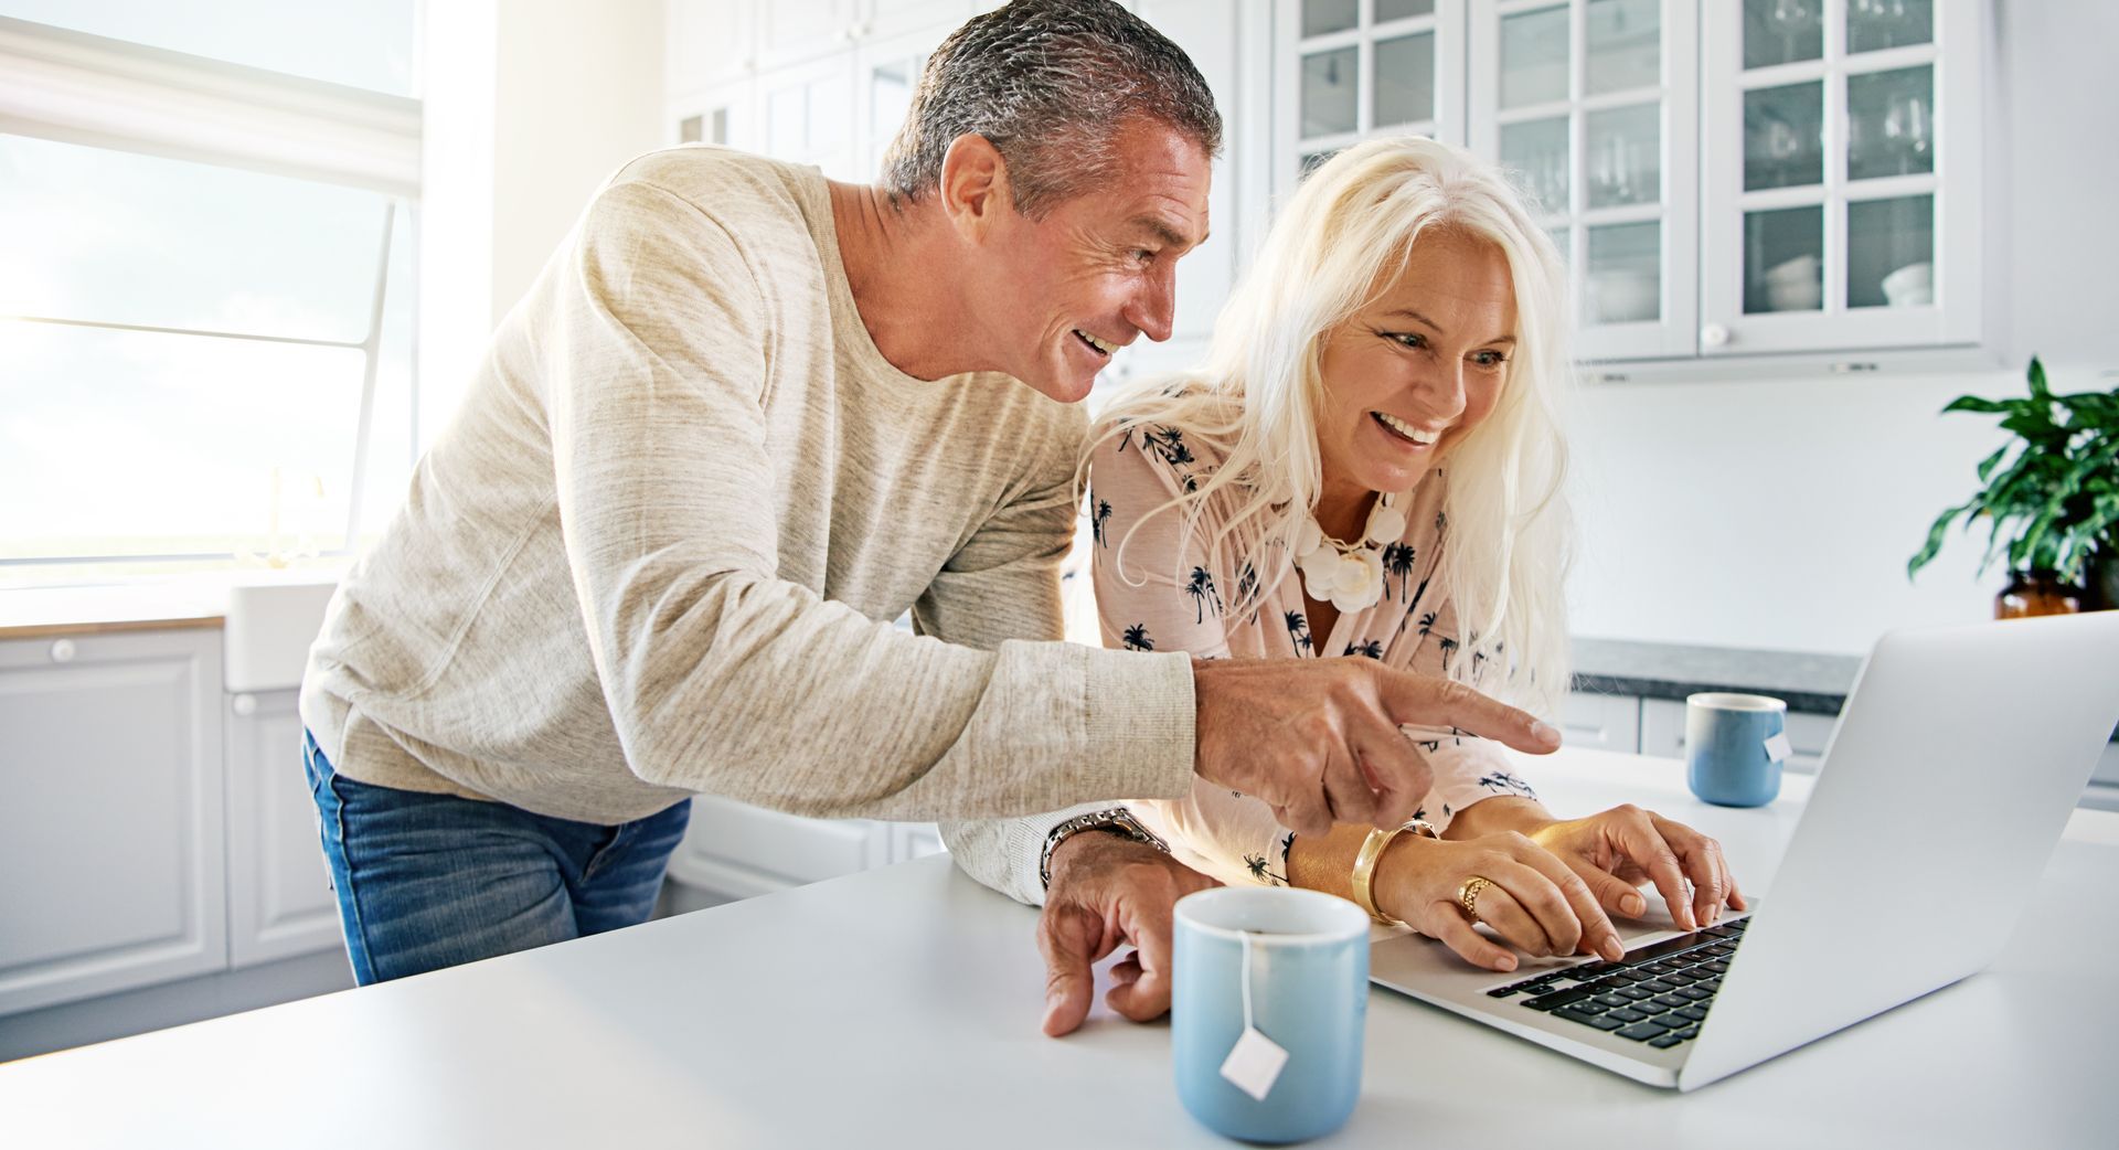
[(424, 4), (420, 430), (612, 169), (661, 144), (657, 0)]

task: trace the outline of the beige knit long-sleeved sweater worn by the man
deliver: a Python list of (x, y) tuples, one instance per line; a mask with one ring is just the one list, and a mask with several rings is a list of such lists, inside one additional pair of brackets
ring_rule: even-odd
[(354, 779), (602, 824), (695, 790), (1180, 796), (1185, 654), (1021, 642), (1062, 633), (1081, 434), (1009, 377), (884, 360), (816, 169), (653, 152), (494, 333), (331, 601), (303, 722)]

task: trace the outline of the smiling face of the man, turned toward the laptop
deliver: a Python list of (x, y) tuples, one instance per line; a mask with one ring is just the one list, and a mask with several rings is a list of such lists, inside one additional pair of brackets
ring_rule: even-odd
[(977, 328), (996, 339), (1002, 371), (1062, 402), (1087, 396), (1134, 337), (1170, 339), (1176, 260), (1206, 239), (1199, 144), (1144, 119), (1125, 121), (1115, 144), (1108, 184), (1040, 220), (1002, 208), (981, 260)]

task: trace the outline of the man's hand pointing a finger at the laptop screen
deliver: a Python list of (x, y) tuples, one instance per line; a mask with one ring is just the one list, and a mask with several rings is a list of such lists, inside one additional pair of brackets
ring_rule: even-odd
[(1373, 659), (1193, 661), (1193, 773), (1263, 798), (1297, 834), (1401, 826), (1435, 781), (1401, 724), (1456, 726), (1530, 754), (1560, 731), (1477, 690)]

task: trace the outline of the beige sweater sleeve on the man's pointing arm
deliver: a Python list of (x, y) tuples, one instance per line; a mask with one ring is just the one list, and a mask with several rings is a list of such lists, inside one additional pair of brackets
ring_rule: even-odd
[[(1019, 815), (1185, 792), (1185, 659), (979, 650), (776, 578), (761, 498), (780, 466), (763, 394), (776, 333), (742, 248), (699, 208), (615, 184), (557, 271), (542, 333), (557, 517), (636, 775), (803, 815)], [(1040, 578), (1051, 540), (1017, 529), (1038, 515), (996, 517), (937, 578), (930, 616)]]

